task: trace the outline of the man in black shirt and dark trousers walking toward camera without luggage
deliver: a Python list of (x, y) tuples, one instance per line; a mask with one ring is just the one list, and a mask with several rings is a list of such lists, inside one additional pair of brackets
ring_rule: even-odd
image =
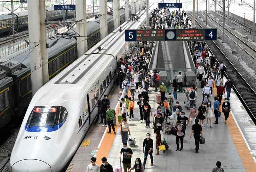
[[(144, 150), (145, 147), (145, 150)], [(153, 166), (153, 140), (150, 138), (150, 133), (147, 133), (147, 138), (144, 139), (143, 141), (143, 146), (142, 146), (142, 152), (144, 153), (144, 161), (143, 161), (143, 166), (145, 168), (148, 154), (150, 156), (151, 164), (150, 166)]]

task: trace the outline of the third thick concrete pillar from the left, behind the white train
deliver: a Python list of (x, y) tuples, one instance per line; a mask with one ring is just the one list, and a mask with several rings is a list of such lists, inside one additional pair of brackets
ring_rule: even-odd
[(100, 0), (100, 39), (105, 38), (107, 35), (108, 35), (107, 0)]

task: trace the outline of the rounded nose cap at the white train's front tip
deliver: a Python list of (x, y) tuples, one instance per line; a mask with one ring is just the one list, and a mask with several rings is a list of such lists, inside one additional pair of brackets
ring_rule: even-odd
[(11, 167), (12, 172), (52, 172), (50, 165), (39, 160), (21, 160)]

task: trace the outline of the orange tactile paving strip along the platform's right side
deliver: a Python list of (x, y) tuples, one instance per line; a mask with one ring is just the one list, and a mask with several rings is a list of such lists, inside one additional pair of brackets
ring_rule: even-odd
[[(213, 94), (214, 95), (217, 94), (216, 87), (213, 88)], [(222, 98), (222, 102), (224, 102), (223, 98)], [(221, 105), (220, 105), (220, 109), (221, 109)], [(252, 154), (250, 153), (246, 143), (244, 142), (243, 136), (240, 133), (231, 113), (229, 113), (227, 126), (231, 134), (231, 137), (233, 139), (233, 142), (236, 145), (237, 152), (243, 162), (244, 168), (246, 169), (246, 172), (255, 172), (256, 163), (254, 162)]]

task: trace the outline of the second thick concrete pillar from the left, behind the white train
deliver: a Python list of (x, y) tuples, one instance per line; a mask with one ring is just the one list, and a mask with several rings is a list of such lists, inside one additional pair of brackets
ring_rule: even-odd
[[(86, 18), (86, 3), (85, 0), (76, 0), (76, 20), (84, 20)], [(86, 22), (78, 22), (76, 24), (76, 32), (77, 32), (77, 56), (81, 57), (87, 51), (87, 27)], [(83, 36), (83, 37), (79, 37)], [(86, 42), (86, 46), (85, 46)]]

